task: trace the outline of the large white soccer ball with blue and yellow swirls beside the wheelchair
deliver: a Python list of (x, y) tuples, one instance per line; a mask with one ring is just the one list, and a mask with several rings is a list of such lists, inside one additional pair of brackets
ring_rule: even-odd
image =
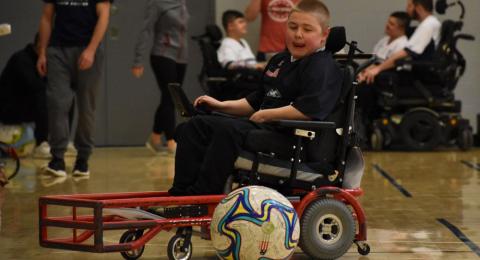
[(222, 259), (288, 259), (300, 226), (292, 204), (277, 191), (248, 186), (230, 193), (215, 209), (211, 236)]

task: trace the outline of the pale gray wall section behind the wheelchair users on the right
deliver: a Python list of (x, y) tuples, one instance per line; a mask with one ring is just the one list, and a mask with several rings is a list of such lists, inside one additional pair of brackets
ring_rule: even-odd
[[(385, 22), (389, 14), (397, 10), (405, 10), (407, 0), (324, 0), (328, 5), (332, 21), (331, 25), (342, 25), (347, 29), (347, 39), (359, 43), (360, 49), (370, 52), (375, 43), (383, 36)], [(450, 0), (449, 2), (454, 2)], [(466, 6), (464, 33), (473, 34), (475, 42), (461, 41), (459, 49), (467, 60), (467, 71), (456, 88), (456, 97), (463, 101), (463, 115), (470, 119), (476, 128), (476, 115), (480, 113), (480, 1), (462, 0)], [(221, 24), (223, 11), (227, 9), (245, 10), (249, 0), (217, 0), (216, 21)], [(440, 20), (457, 20), (459, 7), (447, 10), (446, 15), (437, 15)], [(246, 37), (255, 51), (258, 45), (259, 18), (250, 24)]]

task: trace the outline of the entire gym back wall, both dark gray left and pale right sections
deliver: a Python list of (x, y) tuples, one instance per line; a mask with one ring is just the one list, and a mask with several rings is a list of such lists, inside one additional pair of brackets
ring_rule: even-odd
[[(28, 4), (26, 4), (28, 1)], [(142, 144), (152, 127), (152, 117), (160, 98), (159, 91), (150, 71), (143, 79), (137, 80), (130, 74), (133, 46), (138, 32), (146, 0), (117, 0), (117, 11), (112, 14), (110, 31), (107, 35), (107, 62), (105, 66), (105, 87), (99, 95), (97, 107), (98, 145), (139, 145)], [(325, 0), (332, 12), (332, 25), (347, 28), (348, 39), (359, 42), (360, 47), (369, 51), (382, 36), (388, 14), (404, 10), (406, 0)], [(480, 1), (463, 0), (467, 7), (465, 33), (477, 37), (475, 42), (461, 42), (460, 50), (468, 63), (467, 72), (461, 79), (456, 94), (463, 101), (464, 115), (476, 125), (476, 114), (480, 113)], [(188, 0), (191, 14), (190, 35), (203, 33), (205, 24), (217, 21), (226, 9), (244, 10), (248, 0)], [(32, 41), (38, 29), (42, 1), (17, 0), (0, 1), (0, 23), (12, 24), (13, 33), (0, 37), (0, 69), (3, 69), (10, 55)], [(216, 10), (216, 11), (215, 11)], [(439, 16), (457, 19), (459, 10), (452, 8), (448, 15)], [(251, 24), (247, 37), (255, 50), (258, 42), (259, 19)], [(184, 88), (193, 98), (202, 92), (197, 75), (201, 66), (198, 46), (190, 41), (190, 64)], [(1, 94), (1, 93), (0, 93)]]

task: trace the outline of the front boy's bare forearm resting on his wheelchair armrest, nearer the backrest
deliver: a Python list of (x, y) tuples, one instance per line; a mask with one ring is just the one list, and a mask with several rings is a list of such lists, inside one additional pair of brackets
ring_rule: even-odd
[(272, 120), (312, 120), (293, 106), (284, 106), (272, 109), (263, 109), (255, 112), (250, 120), (257, 123), (265, 123)]

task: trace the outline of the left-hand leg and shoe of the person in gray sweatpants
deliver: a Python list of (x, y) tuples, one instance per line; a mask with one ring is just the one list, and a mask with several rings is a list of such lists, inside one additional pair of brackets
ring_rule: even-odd
[(50, 152), (53, 158), (46, 170), (57, 176), (65, 176), (63, 157), (70, 134), (68, 112), (74, 98), (71, 75), (76, 68), (76, 57), (71, 49), (57, 47), (49, 48), (47, 55), (48, 129)]

